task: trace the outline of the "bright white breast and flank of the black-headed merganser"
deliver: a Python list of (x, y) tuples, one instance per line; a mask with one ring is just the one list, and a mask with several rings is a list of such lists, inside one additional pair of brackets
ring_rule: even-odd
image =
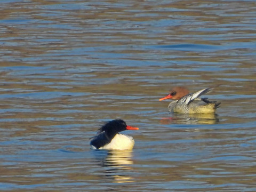
[(119, 149), (119, 150), (131, 150), (134, 146), (134, 140), (132, 137), (124, 134), (116, 134), (116, 136), (107, 145), (100, 147), (99, 149)]

